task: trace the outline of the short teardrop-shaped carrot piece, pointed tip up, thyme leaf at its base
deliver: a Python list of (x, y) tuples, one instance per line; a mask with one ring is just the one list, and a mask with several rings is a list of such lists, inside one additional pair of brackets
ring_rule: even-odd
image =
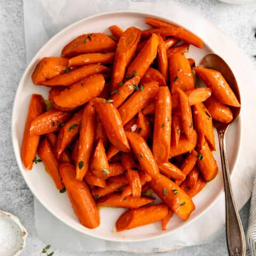
[(95, 176), (99, 177), (100, 179), (107, 179), (109, 176), (108, 159), (101, 140), (98, 141), (92, 155), (91, 171)]

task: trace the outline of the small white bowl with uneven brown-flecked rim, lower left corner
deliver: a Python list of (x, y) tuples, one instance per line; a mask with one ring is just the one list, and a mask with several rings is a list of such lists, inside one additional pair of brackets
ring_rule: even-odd
[(17, 256), (26, 244), (27, 230), (9, 212), (0, 211), (0, 256)]

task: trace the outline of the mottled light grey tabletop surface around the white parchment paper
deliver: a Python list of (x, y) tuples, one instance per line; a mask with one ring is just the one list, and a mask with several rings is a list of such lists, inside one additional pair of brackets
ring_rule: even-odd
[[(228, 5), (214, 0), (178, 2), (196, 7), (214, 25), (217, 25), (244, 50), (256, 67), (256, 2), (246, 5)], [(25, 40), (21, 0), (0, 0), (0, 209), (17, 215), (27, 228), (27, 246), (21, 255), (39, 255), (45, 244), (36, 235), (33, 210), (33, 195), (27, 188), (15, 162), (11, 140), (11, 111), (19, 79), (26, 68)], [(235, 53), (234, 53), (235, 54)], [(241, 210), (244, 228), (247, 228), (249, 203)], [(214, 218), (214, 217), (213, 217)], [(220, 230), (218, 239), (211, 244), (194, 246), (161, 255), (228, 255), (225, 229)], [(54, 255), (131, 255), (120, 252), (75, 253), (53, 249)], [(135, 254), (133, 254), (135, 255)], [(156, 255), (156, 254), (154, 254)]]

